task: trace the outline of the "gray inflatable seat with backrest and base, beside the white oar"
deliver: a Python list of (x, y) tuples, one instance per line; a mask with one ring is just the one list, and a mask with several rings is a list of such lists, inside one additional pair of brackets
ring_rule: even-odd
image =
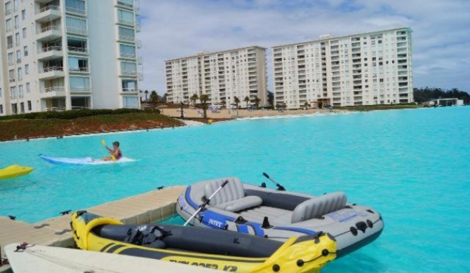
[(225, 211), (242, 211), (250, 207), (257, 207), (262, 204), (263, 200), (257, 196), (245, 196), (245, 189), (241, 184), (240, 179), (236, 177), (228, 177), (224, 179), (215, 179), (209, 181), (204, 186), (204, 195), (209, 198), (215, 191), (220, 188), (224, 181), (228, 180), (229, 183), (224, 186), (212, 199), (210, 206), (223, 209)]

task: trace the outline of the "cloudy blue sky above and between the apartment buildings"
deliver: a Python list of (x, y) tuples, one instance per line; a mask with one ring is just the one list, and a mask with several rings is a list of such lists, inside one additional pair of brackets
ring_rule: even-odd
[(165, 60), (412, 28), (413, 87), (470, 92), (470, 0), (140, 0), (142, 90), (165, 93)]

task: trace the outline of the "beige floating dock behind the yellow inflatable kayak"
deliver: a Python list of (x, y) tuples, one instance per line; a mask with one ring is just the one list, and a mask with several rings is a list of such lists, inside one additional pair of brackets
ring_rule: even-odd
[[(176, 214), (176, 200), (184, 186), (154, 190), (142, 195), (127, 197), (86, 209), (93, 214), (116, 218), (125, 224), (148, 224)], [(43, 246), (74, 246), (70, 229), (70, 214), (30, 224), (0, 216), (0, 257), (6, 258), (7, 244), (27, 242)], [(0, 272), (8, 272), (8, 265), (0, 266)]]

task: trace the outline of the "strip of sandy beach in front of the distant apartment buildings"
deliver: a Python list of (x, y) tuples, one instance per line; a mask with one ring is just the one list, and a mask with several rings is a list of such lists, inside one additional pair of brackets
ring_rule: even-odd
[[(180, 109), (160, 109), (161, 113), (166, 116), (179, 118), (180, 117)], [(332, 111), (333, 113), (339, 113), (340, 111)], [(341, 110), (344, 112), (344, 110)], [(184, 118), (202, 118), (202, 110), (201, 109), (184, 109)], [(229, 110), (229, 109), (221, 109), (219, 112), (212, 112), (207, 111), (208, 118), (255, 118), (255, 117), (267, 117), (267, 116), (290, 116), (290, 115), (306, 115), (306, 114), (314, 114), (314, 113), (330, 113), (328, 109), (311, 109), (311, 110), (285, 110), (285, 111), (277, 111), (277, 110), (255, 110), (255, 111), (248, 111), (246, 109), (239, 109), (237, 112), (236, 110)]]

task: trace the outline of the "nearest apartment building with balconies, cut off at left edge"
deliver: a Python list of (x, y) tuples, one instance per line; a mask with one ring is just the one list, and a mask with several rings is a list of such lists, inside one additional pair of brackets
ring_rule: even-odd
[(4, 0), (1, 115), (138, 108), (135, 0)]

